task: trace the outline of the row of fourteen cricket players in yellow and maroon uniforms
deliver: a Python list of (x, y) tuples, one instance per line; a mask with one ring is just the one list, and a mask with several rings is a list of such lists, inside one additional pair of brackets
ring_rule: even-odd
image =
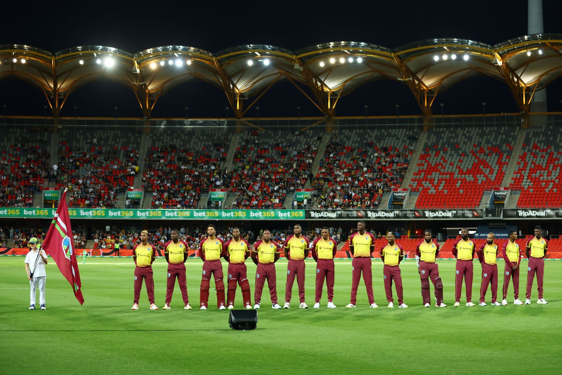
[[(271, 233), (268, 229), (262, 231), (262, 236), (253, 246), (241, 238), (239, 228), (232, 229), (232, 238), (223, 242), (216, 237), (215, 226), (207, 225), (207, 237), (200, 242), (198, 256), (203, 261), (202, 278), (200, 286), (200, 309), (209, 308), (209, 290), (211, 275), (215, 281), (217, 309), (234, 309), (235, 294), (237, 287), (242, 290), (243, 307), (252, 309), (250, 283), (247, 278), (246, 260), (251, 257), (256, 264), (255, 292), (253, 309), (260, 309), (261, 295), (268, 281), (272, 309), (291, 308), (292, 288), (295, 278), (298, 285), (299, 308), (309, 308), (305, 302), (305, 259), (311, 252), (312, 258), (316, 261), (316, 288), (314, 308), (320, 308), (320, 300), (324, 287), (327, 284), (328, 308), (337, 308), (333, 303), (334, 295), (334, 257), (336, 256), (337, 242), (330, 237), (329, 229), (321, 229), (321, 236), (310, 242), (302, 235), (301, 225), (296, 224), (293, 234), (288, 236), (283, 244), (271, 240)], [(494, 306), (507, 305), (507, 291), (510, 282), (513, 283), (514, 305), (531, 304), (531, 292), (534, 278), (537, 279), (537, 304), (547, 304), (543, 299), (543, 276), (544, 276), (544, 257), (547, 252), (548, 241), (542, 237), (540, 226), (534, 228), (534, 237), (527, 241), (524, 253), (519, 248), (517, 233), (509, 231), (509, 238), (498, 245), (493, 233), (489, 233), (487, 241), (482, 243), (477, 249), (473, 240), (469, 238), (468, 229), (461, 230), (461, 238), (456, 240), (453, 245), (452, 253), (456, 258), (455, 270), (455, 307), (460, 306), (463, 279), (466, 292), (466, 306), (476, 306), (472, 302), (472, 282), (473, 282), (473, 260), (474, 255), (478, 255), (479, 263), (482, 266), (482, 283), (479, 296), (479, 306), (486, 306), (486, 292), (488, 287), (491, 289), (491, 304)], [(394, 308), (392, 295), (392, 284), (398, 300), (398, 308), (407, 308), (404, 302), (404, 290), (402, 287), (402, 277), (400, 262), (404, 259), (404, 248), (396, 243), (393, 233), (387, 234), (387, 243), (380, 249), (375, 249), (375, 237), (365, 230), (365, 222), (360, 220), (357, 223), (357, 232), (353, 233), (347, 240), (350, 246), (352, 259), (352, 286), (350, 303), (346, 308), (355, 308), (357, 305), (357, 289), (361, 277), (363, 278), (370, 308), (378, 308), (374, 301), (373, 293), (373, 274), (371, 255), (374, 251), (379, 251), (383, 262), (384, 290), (388, 301), (388, 308)], [(277, 299), (277, 276), (275, 273), (275, 262), (280, 258), (281, 251), (288, 259), (287, 280), (285, 283), (285, 302), (283, 307), (278, 304)], [(443, 282), (439, 276), (439, 268), (436, 263), (439, 254), (439, 244), (433, 239), (433, 233), (429, 229), (424, 231), (424, 239), (421, 240), (415, 249), (416, 264), (420, 275), (420, 287), (422, 291), (422, 305), (430, 307), (430, 281), (433, 284), (434, 296), (437, 308), (445, 308), (447, 305), (443, 301)], [(497, 256), (501, 254), (505, 260), (504, 283), (502, 287), (501, 303), (497, 299), (498, 267)], [(527, 257), (527, 287), (525, 290), (525, 302), (519, 300), (519, 269), (522, 255)], [(178, 279), (180, 291), (184, 302), (184, 309), (191, 310), (187, 293), (185, 261), (188, 258), (187, 243), (180, 240), (178, 229), (171, 231), (171, 240), (166, 242), (164, 255), (168, 263), (166, 300), (162, 309), (171, 309), (171, 299), (174, 292), (175, 281)], [(155, 304), (154, 281), (152, 263), (156, 259), (157, 252), (155, 247), (148, 243), (148, 232), (140, 234), (140, 243), (133, 247), (133, 260), (135, 263), (134, 271), (134, 301), (132, 310), (139, 309), (140, 291), (142, 283), (146, 285), (149, 309), (158, 310)], [(223, 265), (221, 258), (228, 262), (227, 283), (224, 283)], [(226, 287), (226, 299), (225, 299)]]

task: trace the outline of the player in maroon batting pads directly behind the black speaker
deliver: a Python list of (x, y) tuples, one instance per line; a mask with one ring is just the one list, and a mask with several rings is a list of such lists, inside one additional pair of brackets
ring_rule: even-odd
[(228, 292), (226, 302), (228, 309), (234, 309), (234, 296), (236, 295), (236, 283), (242, 288), (242, 300), (246, 309), (251, 309), (250, 305), (250, 283), (246, 276), (246, 264), (244, 263), (250, 256), (250, 244), (240, 238), (240, 229), (232, 228), (232, 239), (224, 243), (224, 259), (228, 261)]

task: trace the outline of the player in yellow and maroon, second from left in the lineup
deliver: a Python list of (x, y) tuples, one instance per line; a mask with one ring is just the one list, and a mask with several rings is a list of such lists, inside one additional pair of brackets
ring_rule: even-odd
[(187, 260), (187, 243), (179, 239), (178, 229), (172, 229), (171, 240), (164, 245), (164, 256), (168, 263), (166, 279), (166, 304), (162, 309), (170, 310), (170, 302), (174, 293), (175, 279), (178, 278), (179, 290), (182, 291), (184, 310), (191, 310), (187, 286), (185, 284), (185, 261)]

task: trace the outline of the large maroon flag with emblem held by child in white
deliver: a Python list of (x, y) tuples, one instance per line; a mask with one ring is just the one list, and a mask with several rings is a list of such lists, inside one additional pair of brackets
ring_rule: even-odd
[(55, 260), (58, 269), (60, 269), (61, 273), (71, 284), (74, 296), (81, 305), (84, 303), (84, 297), (80, 290), (82, 283), (80, 282), (76, 251), (74, 249), (74, 241), (72, 240), (69, 209), (66, 206), (66, 191), (67, 189), (62, 193), (57, 213), (51, 222), (41, 247)]

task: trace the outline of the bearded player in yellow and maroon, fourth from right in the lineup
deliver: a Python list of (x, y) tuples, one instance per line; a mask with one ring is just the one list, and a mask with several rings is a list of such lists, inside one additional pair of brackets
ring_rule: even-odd
[(466, 306), (476, 306), (472, 303), (472, 279), (474, 275), (473, 259), (476, 245), (468, 238), (468, 229), (460, 231), (460, 238), (453, 243), (453, 255), (456, 258), (455, 275), (455, 306), (460, 306), (460, 295), (463, 290), (463, 278), (466, 292)]

